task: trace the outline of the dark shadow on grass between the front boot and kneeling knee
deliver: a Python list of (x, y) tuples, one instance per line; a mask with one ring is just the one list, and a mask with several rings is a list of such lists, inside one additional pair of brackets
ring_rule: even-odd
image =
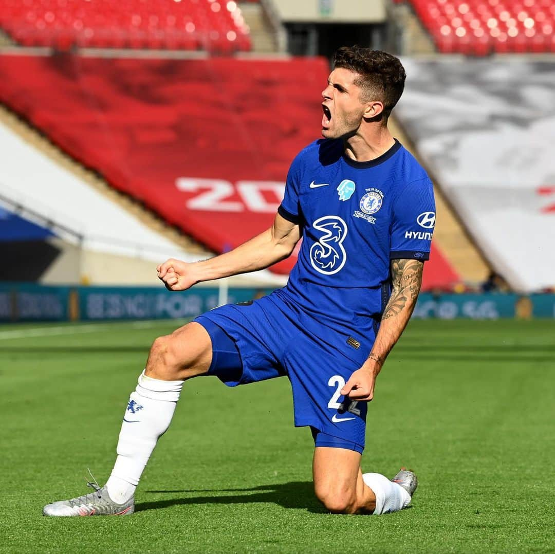
[(192, 490), (163, 490), (145, 491), (147, 493), (236, 493), (226, 495), (195, 495), (185, 498), (171, 498), (169, 500), (154, 500), (139, 502), (135, 505), (136, 512), (146, 510), (160, 510), (170, 506), (194, 504), (250, 504), (256, 502), (273, 502), (284, 508), (305, 508), (314, 513), (326, 513), (326, 510), (314, 496), (312, 481), (292, 481), (276, 485), (262, 485), (251, 488), (219, 488)]

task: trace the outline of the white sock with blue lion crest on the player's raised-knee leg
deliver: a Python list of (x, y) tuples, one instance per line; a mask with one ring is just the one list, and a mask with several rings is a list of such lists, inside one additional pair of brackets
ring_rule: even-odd
[(162, 381), (139, 376), (129, 396), (119, 433), (118, 457), (106, 486), (114, 502), (127, 502), (139, 484), (160, 436), (168, 429), (184, 381)]

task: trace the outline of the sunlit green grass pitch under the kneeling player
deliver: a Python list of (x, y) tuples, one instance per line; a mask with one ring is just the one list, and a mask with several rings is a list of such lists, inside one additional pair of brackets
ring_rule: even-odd
[[(178, 322), (182, 323), (182, 322)], [(149, 345), (175, 321), (0, 328), (0, 552), (555, 552), (555, 321), (414, 321), (368, 416), (364, 471), (413, 507), (326, 513), (286, 379), (185, 385), (130, 517), (46, 518), (103, 484)]]

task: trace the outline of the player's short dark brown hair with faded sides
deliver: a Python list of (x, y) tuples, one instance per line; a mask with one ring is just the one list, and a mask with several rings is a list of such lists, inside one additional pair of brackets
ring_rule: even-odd
[(398, 58), (381, 50), (344, 46), (335, 53), (334, 67), (358, 73), (355, 84), (362, 89), (363, 98), (384, 103), (386, 117), (405, 88), (405, 68)]

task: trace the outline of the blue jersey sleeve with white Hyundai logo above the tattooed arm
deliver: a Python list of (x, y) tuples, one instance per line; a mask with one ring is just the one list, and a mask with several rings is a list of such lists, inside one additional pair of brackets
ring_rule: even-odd
[(428, 177), (398, 190), (393, 202), (390, 259), (430, 259), (435, 220), (433, 185)]

